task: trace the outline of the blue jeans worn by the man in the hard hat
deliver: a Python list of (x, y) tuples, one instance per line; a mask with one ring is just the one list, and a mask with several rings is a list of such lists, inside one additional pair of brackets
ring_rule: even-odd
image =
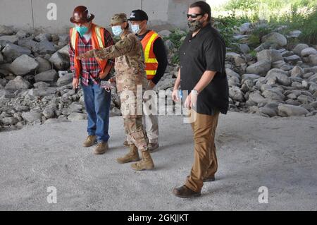
[(88, 114), (88, 135), (97, 135), (98, 142), (108, 142), (109, 111), (111, 92), (89, 79), (88, 86), (81, 84), (85, 107)]

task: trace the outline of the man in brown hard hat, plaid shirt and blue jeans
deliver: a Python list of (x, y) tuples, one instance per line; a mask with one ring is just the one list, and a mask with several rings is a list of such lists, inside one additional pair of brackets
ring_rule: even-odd
[[(94, 154), (104, 154), (108, 149), (108, 126), (111, 93), (101, 88), (101, 80), (108, 80), (113, 68), (111, 59), (76, 59), (79, 54), (92, 49), (101, 49), (113, 45), (110, 32), (92, 23), (94, 15), (87, 7), (77, 6), (70, 22), (75, 24), (70, 28), (70, 70), (73, 72), (73, 87), (82, 87), (85, 108), (88, 114), (87, 140), (84, 147), (90, 147), (97, 142)], [(77, 130), (74, 132), (77, 133)]]

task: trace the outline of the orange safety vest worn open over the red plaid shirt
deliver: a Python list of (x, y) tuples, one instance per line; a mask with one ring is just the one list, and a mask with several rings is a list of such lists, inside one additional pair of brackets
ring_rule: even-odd
[[(81, 63), (80, 60), (76, 59), (78, 56), (78, 38), (80, 38), (80, 35), (78, 34), (76, 28), (70, 28), (70, 44), (72, 45), (73, 49), (75, 50), (75, 58), (74, 58), (74, 66), (75, 66), (75, 75), (77, 78), (80, 77), (80, 71), (81, 71)], [(105, 47), (104, 43), (104, 28), (101, 28), (95, 24), (92, 24), (92, 47), (94, 49), (103, 49)], [(107, 59), (96, 59), (101, 71), (100, 74), (104, 73), (104, 70), (107, 65)]]

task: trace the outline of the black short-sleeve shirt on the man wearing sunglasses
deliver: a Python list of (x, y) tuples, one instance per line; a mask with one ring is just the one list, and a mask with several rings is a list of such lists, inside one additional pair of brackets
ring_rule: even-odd
[(190, 92), (205, 71), (216, 75), (197, 98), (197, 113), (213, 115), (215, 111), (227, 114), (229, 107), (228, 79), (225, 73), (225, 42), (219, 32), (206, 25), (197, 35), (189, 32), (180, 47), (180, 87)]

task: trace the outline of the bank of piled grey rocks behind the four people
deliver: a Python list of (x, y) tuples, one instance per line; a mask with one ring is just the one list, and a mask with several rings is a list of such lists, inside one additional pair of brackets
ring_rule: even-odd
[[(235, 39), (247, 39), (250, 29), (251, 24), (242, 25)], [(179, 32), (181, 42), (186, 33)], [(169, 62), (178, 54), (168, 39), (171, 34), (160, 32)], [(248, 44), (237, 44), (238, 51), (228, 49), (230, 110), (269, 117), (317, 114), (316, 47), (287, 45), (299, 34), (272, 32), (261, 39), (256, 54)], [(178, 68), (170, 63), (156, 86), (158, 93), (173, 89)], [(82, 92), (75, 93), (71, 82), (68, 35), (31, 35), (0, 25), (0, 128), (87, 118)], [(119, 97), (116, 91), (111, 95), (111, 116), (120, 116)]]

